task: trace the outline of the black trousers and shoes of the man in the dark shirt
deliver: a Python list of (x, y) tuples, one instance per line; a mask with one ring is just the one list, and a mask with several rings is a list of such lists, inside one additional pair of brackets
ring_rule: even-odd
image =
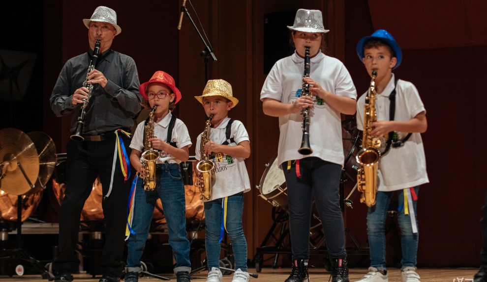
[[(125, 136), (122, 138), (125, 150), (130, 154), (128, 147), (130, 140)], [(61, 255), (53, 262), (53, 271), (56, 274), (78, 271), (80, 261), (75, 249), (77, 249), (81, 210), (97, 176), (100, 177), (103, 196), (107, 195), (112, 178), (115, 146), (115, 138), (99, 142), (72, 140), (68, 142), (66, 191), (59, 210)], [(124, 267), (122, 255), (130, 184), (130, 179), (123, 180), (120, 162), (117, 159), (112, 191), (102, 202), (105, 217), (105, 244), (101, 258), (103, 274), (119, 276)]]

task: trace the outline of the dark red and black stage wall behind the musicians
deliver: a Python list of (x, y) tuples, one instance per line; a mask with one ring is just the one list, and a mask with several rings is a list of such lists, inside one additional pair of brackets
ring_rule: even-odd
[[(30, 81), (22, 81), (28, 85), (26, 94), (13, 102), (8, 101), (5, 86), (12, 72), (4, 72), (6, 59), (2, 59), (0, 128), (44, 131), (55, 141), (58, 153), (65, 152), (71, 117), (55, 117), (49, 97), (64, 62), (87, 51), (87, 29), (82, 19), (90, 18), (96, 6), (106, 5), (117, 11), (122, 27), (113, 49), (134, 58), (142, 82), (156, 70), (173, 75), (183, 93), (176, 114), (193, 140), (202, 131), (205, 115), (193, 96), (201, 95), (205, 85), (204, 63), (199, 55), (204, 46), (187, 17), (182, 30), (176, 29), (181, 2), (8, 2), (10, 9), (4, 9), (0, 18), (0, 56), (4, 58), (7, 50), (33, 53), (36, 58)], [(327, 34), (327, 52), (345, 63), (360, 94), (366, 90), (369, 77), (355, 53), (356, 43), (375, 29), (388, 29), (403, 48), (403, 62), (395, 74), (417, 86), (429, 125), (423, 140), (430, 183), (421, 188), (419, 195), (418, 266), (480, 264), (479, 220), (486, 194), (482, 177), (486, 160), (482, 146), (482, 109), (487, 102), (486, 1), (193, 0), (192, 4), (218, 58), (211, 63), (210, 78), (228, 80), (240, 100), (230, 115), (243, 121), (250, 134), (252, 154), (246, 164), (253, 185), (259, 184), (264, 164), (276, 154), (277, 119), (263, 114), (259, 94), (266, 66), (276, 59), (273, 54), (284, 56), (288, 51), (283, 36), (287, 36), (286, 25), (292, 25), (294, 11), (323, 11), (325, 27), (331, 30)], [(189, 1), (187, 6), (196, 20)], [(279, 21), (275, 28), (280, 30), (269, 33), (266, 25), (275, 22), (266, 23), (265, 18)], [(190, 152), (194, 154), (194, 146)], [(244, 230), (249, 258), (272, 224), (272, 206), (258, 194), (258, 189), (245, 194)], [(346, 226), (366, 244), (366, 209), (359, 204), (358, 194), (353, 200), (354, 209), (346, 210)], [(44, 214), (44, 210), (37, 216), (57, 220), (55, 214)], [(389, 248), (388, 257), (394, 252)]]

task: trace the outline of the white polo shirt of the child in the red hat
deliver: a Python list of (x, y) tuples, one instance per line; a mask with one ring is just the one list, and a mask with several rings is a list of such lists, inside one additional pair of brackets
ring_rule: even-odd
[[(167, 140), (167, 127), (171, 121), (172, 113), (168, 113), (162, 120), (154, 124), (154, 135), (157, 138), (162, 139), (166, 142)], [(176, 142), (176, 146), (181, 149), (184, 146), (191, 147), (191, 139), (189, 138), (188, 128), (184, 125), (183, 121), (176, 119), (173, 128), (173, 135), (171, 136), (171, 142)], [(135, 129), (134, 137), (130, 142), (130, 148), (144, 152), (144, 122), (137, 125)], [(180, 163), (181, 160), (175, 158), (166, 151), (159, 151), (160, 157), (157, 159), (156, 163)]]

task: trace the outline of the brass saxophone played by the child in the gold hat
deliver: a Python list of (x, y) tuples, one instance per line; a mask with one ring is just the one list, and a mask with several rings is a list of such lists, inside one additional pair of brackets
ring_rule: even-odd
[(210, 126), (212, 125), (213, 115), (208, 117), (205, 124), (205, 130), (201, 134), (200, 144), (200, 161), (196, 164), (197, 186), (200, 189), (200, 200), (210, 200), (212, 198), (212, 170), (215, 167), (215, 162), (209, 159), (205, 152), (205, 144), (210, 141)]

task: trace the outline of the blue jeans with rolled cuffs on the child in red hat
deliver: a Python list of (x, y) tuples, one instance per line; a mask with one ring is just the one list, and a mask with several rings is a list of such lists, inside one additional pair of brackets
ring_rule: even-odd
[(130, 234), (127, 241), (128, 271), (140, 271), (140, 257), (144, 252), (155, 202), (157, 198), (160, 198), (169, 230), (169, 245), (171, 245), (176, 259), (174, 272), (190, 272), (189, 241), (186, 233), (186, 204), (180, 166), (176, 163), (162, 164), (157, 168), (156, 176), (158, 186), (153, 191), (144, 190), (142, 179), (137, 181), (132, 221), (132, 229), (135, 231), (135, 235)]

